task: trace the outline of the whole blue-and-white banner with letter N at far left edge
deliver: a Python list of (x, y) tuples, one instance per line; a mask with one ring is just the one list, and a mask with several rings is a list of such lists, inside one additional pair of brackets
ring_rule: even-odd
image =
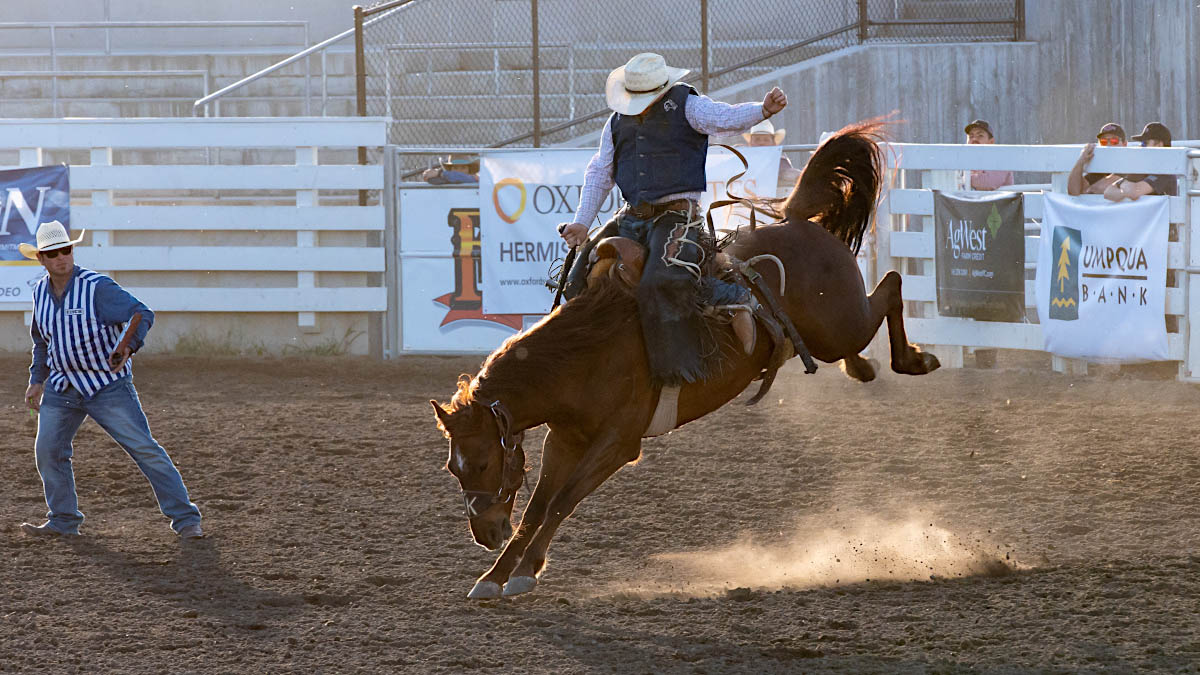
[(56, 220), (71, 232), (68, 175), (66, 165), (0, 171), (0, 301), (32, 301), (46, 269), (18, 246), (36, 245), (38, 225)]

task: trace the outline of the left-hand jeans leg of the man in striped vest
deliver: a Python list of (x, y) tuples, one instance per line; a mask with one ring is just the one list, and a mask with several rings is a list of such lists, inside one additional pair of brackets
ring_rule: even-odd
[(49, 509), (46, 518), (50, 527), (72, 534), (78, 534), (79, 525), (83, 524), (74, 486), (74, 467), (71, 464), (74, 454), (71, 441), (85, 417), (79, 400), (79, 392), (74, 389), (60, 394), (47, 384), (37, 414), (37, 440), (34, 442), (37, 473), (42, 477), (46, 507)]

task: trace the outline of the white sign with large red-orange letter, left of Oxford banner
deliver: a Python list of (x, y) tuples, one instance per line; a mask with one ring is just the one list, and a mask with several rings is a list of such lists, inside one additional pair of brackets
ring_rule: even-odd
[(491, 352), (523, 328), (521, 315), (484, 313), (479, 250), (479, 190), (400, 191), (402, 351)]

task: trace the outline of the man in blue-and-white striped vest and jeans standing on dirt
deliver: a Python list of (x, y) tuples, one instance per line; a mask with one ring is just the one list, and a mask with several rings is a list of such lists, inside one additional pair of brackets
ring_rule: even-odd
[[(34, 287), (34, 364), (29, 368), (25, 405), (38, 411), (35, 454), (49, 512), (42, 525), (23, 522), (34, 537), (79, 533), (83, 513), (71, 466), (79, 425), (91, 417), (133, 458), (150, 480), (158, 508), (182, 539), (204, 536), (200, 510), (167, 450), (150, 435), (133, 388), (132, 356), (145, 341), (154, 312), (115, 281), (74, 264), (74, 245), (59, 221), (37, 228), (37, 246), (22, 244), (22, 255), (42, 263), (47, 275)], [(132, 339), (122, 341), (125, 324), (142, 315)], [(122, 344), (125, 346), (122, 346)], [(47, 387), (49, 384), (49, 387)]]

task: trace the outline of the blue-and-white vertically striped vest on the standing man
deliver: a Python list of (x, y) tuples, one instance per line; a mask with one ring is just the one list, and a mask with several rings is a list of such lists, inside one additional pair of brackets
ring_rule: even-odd
[(133, 372), (133, 360), (116, 372), (108, 370), (108, 354), (121, 341), (124, 325), (106, 325), (96, 318), (96, 283), (104, 275), (79, 268), (62, 300), (52, 295), (50, 277), (34, 287), (34, 321), (48, 347), (50, 375), (47, 384), (55, 392), (74, 387), (92, 398), (106, 384)]

